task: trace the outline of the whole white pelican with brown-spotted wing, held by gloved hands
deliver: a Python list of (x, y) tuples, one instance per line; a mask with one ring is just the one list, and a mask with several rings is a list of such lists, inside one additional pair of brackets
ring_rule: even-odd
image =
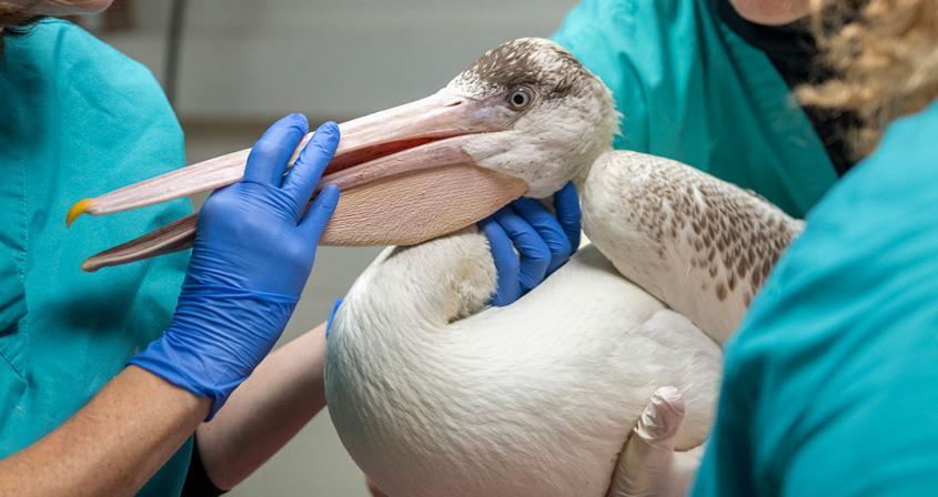
[[(325, 242), (404, 246), (385, 250), (337, 310), (326, 396), (346, 449), (387, 495), (618, 495), (629, 433), (668, 409), (683, 420), (666, 434), (673, 447), (699, 450), (720, 346), (803, 225), (687, 165), (613, 151), (617, 128), (602, 81), (541, 39), (342, 125), (323, 184), (344, 193)], [(246, 155), (82, 201), (68, 221), (229, 184)], [(495, 267), (472, 226), (571, 180), (592, 244), (491, 307)], [(84, 267), (183, 247), (193, 230), (183, 220)]]

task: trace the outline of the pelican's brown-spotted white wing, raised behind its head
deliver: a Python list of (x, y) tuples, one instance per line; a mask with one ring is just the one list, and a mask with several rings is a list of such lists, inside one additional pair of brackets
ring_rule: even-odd
[(679, 162), (603, 155), (584, 184), (584, 230), (627, 278), (718, 343), (803, 223)]

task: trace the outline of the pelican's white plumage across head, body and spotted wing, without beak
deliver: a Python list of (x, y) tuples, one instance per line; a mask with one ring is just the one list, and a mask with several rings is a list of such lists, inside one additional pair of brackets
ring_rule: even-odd
[(714, 339), (800, 227), (685, 165), (608, 152), (608, 90), (551, 42), (503, 45), (451, 87), (485, 95), (512, 74), (541, 101), (511, 139), (467, 151), (537, 196), (578, 179), (595, 246), (505, 308), (487, 306), (495, 268), (474, 229), (389, 248), (361, 275), (329, 335), (327, 400), (352, 457), (392, 497), (606, 495), (665, 385), (687, 407), (676, 448), (699, 446), (722, 367)]

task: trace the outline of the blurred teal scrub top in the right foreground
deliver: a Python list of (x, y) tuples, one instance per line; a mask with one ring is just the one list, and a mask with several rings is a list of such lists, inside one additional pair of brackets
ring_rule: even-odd
[(938, 102), (808, 215), (725, 354), (696, 496), (938, 495)]

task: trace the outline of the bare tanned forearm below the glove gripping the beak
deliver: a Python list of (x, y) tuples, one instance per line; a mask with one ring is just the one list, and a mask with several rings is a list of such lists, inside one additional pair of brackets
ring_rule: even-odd
[(0, 460), (0, 496), (132, 496), (208, 412), (208, 398), (128, 367), (60, 428)]

